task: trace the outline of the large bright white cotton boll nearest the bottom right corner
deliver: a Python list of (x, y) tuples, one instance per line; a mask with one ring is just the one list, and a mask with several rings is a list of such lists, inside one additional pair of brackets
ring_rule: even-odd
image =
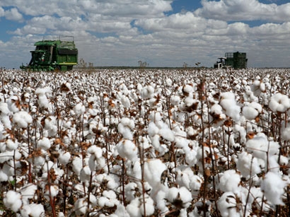
[(281, 175), (276, 172), (267, 172), (261, 182), (261, 189), (269, 202), (274, 205), (284, 205), (282, 195), (287, 183), (282, 180)]

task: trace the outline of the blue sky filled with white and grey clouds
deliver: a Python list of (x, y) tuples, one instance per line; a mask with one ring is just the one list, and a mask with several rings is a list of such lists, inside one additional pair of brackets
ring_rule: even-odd
[(0, 27), (9, 69), (59, 36), (93, 66), (212, 67), (238, 51), (248, 67), (290, 67), (290, 0), (1, 0)]

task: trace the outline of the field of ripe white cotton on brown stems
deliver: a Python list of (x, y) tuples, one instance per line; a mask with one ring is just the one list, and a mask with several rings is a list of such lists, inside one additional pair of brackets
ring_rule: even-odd
[(1, 216), (290, 216), (289, 69), (0, 73)]

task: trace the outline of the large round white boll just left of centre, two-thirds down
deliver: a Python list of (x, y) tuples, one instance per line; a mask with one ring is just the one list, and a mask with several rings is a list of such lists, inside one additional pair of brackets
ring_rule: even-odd
[(123, 139), (116, 146), (117, 152), (121, 158), (127, 158), (131, 161), (137, 160), (138, 148), (128, 139)]

